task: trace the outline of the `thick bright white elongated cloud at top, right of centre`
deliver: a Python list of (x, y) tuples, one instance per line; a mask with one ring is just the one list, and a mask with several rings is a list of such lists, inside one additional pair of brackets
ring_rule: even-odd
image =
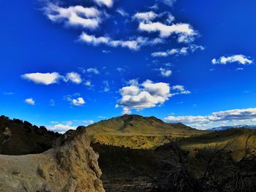
[(178, 42), (192, 42), (197, 32), (188, 23), (177, 23), (166, 25), (160, 22), (140, 22), (140, 31), (159, 32), (162, 38), (170, 37), (172, 34), (178, 35)]

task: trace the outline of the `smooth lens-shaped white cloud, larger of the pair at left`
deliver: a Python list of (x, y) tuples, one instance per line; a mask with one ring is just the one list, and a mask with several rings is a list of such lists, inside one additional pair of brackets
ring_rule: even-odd
[(53, 83), (58, 82), (58, 80), (61, 78), (61, 75), (57, 72), (53, 73), (29, 73), (29, 74), (23, 74), (21, 77), (23, 77), (26, 80), (31, 80), (38, 84), (44, 84), (44, 85), (50, 85)]

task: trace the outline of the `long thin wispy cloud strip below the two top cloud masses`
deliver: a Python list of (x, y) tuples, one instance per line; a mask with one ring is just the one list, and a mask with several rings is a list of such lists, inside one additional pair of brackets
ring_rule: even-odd
[(95, 37), (94, 35), (89, 35), (83, 32), (79, 37), (81, 42), (86, 42), (90, 45), (108, 45), (110, 47), (126, 47), (130, 50), (139, 50), (140, 47), (146, 45), (157, 45), (159, 43), (163, 43), (164, 41), (159, 38), (148, 39), (146, 37), (137, 37), (135, 39), (129, 40), (114, 40), (110, 37)]

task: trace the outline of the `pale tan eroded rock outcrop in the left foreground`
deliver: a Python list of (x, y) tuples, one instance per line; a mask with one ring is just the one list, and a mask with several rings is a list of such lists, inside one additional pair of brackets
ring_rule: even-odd
[(85, 130), (68, 131), (44, 153), (0, 155), (0, 191), (105, 191), (98, 157)]

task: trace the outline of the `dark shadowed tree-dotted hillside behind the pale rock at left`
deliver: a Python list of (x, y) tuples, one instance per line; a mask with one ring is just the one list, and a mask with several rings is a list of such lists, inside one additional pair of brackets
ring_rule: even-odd
[(60, 134), (44, 126), (33, 126), (26, 120), (0, 117), (0, 154), (26, 155), (42, 153), (52, 147)]

